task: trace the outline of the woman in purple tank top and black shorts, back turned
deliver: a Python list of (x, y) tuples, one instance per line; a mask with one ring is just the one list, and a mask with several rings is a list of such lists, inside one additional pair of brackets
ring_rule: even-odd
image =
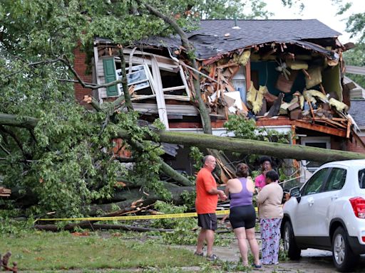
[(238, 247), (244, 266), (248, 265), (248, 247), (250, 244), (251, 252), (255, 262), (255, 268), (260, 268), (259, 245), (255, 237), (256, 213), (252, 205), (252, 195), (255, 191), (255, 184), (251, 178), (247, 178), (249, 169), (246, 164), (240, 163), (236, 167), (235, 179), (227, 181), (225, 188), (226, 195), (230, 194), (230, 223), (238, 240)]

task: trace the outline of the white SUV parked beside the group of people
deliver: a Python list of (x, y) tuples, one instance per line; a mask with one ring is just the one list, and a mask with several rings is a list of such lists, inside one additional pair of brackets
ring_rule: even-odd
[(284, 204), (282, 238), (290, 259), (301, 250), (331, 250), (339, 272), (365, 254), (365, 159), (322, 165)]

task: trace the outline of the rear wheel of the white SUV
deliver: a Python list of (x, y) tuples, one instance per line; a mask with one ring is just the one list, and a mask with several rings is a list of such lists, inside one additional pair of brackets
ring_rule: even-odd
[(334, 231), (332, 238), (332, 259), (339, 272), (350, 272), (356, 266), (359, 255), (355, 255), (349, 246), (344, 228), (339, 227)]

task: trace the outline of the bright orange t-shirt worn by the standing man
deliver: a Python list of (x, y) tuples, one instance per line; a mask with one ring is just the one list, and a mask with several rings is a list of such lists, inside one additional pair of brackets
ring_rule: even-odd
[(211, 188), (217, 189), (217, 183), (212, 173), (207, 168), (202, 168), (197, 173), (195, 209), (197, 214), (215, 213), (217, 210), (218, 195), (209, 194)]

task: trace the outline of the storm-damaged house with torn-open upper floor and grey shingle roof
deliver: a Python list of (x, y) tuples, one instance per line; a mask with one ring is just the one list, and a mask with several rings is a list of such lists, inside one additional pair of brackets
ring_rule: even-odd
[[(195, 46), (202, 97), (212, 131), (225, 135), (230, 114), (255, 118), (258, 127), (292, 132), (293, 144), (344, 151), (365, 151), (348, 114), (350, 87), (344, 83), (340, 33), (313, 20), (206, 20), (187, 33)], [(202, 132), (200, 114), (180, 37), (153, 37), (123, 49), (133, 107), (148, 121), (159, 118), (166, 129)], [(93, 70), (85, 75), (85, 55), (76, 50), (76, 71), (102, 84), (120, 78), (118, 48), (106, 38), (94, 41)], [(195, 71), (196, 72), (196, 71)], [(99, 102), (123, 94), (121, 85), (93, 94), (76, 85), (76, 97)], [(169, 148), (168, 148), (169, 149)], [(176, 156), (185, 166), (188, 151)], [(175, 156), (176, 149), (170, 147)], [(302, 162), (312, 171), (315, 162)]]

